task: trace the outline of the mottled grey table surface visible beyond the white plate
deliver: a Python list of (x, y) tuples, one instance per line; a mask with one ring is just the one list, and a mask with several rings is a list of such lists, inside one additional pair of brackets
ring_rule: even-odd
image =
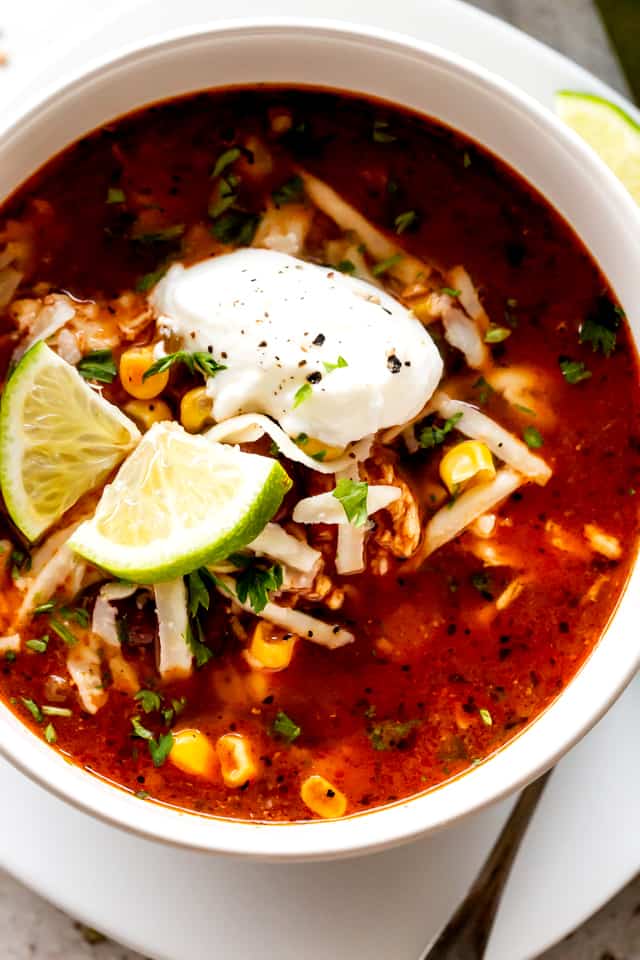
[[(566, 53), (628, 93), (591, 0), (471, 2)], [(91, 931), (0, 871), (0, 960), (142, 960), (109, 941), (91, 942), (96, 939)], [(640, 877), (539, 960), (640, 960)]]

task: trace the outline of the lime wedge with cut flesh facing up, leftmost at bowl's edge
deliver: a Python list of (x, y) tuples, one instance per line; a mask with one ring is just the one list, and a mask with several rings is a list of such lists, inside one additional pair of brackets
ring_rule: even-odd
[(37, 539), (139, 439), (118, 407), (36, 343), (13, 371), (0, 410), (0, 486), (16, 526)]

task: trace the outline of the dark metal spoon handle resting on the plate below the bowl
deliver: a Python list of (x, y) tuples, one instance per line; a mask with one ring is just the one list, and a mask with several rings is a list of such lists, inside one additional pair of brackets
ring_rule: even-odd
[(523, 790), (469, 893), (420, 960), (482, 960), (513, 861), (551, 772)]

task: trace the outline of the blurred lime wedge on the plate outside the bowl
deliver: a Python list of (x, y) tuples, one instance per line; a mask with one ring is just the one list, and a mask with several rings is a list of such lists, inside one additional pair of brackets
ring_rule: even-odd
[(556, 111), (640, 203), (640, 126), (635, 120), (609, 100), (571, 90), (556, 94)]

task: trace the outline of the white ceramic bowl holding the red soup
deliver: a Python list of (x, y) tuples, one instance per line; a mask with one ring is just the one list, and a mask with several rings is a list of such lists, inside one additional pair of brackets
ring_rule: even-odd
[[(487, 146), (564, 214), (613, 285), (640, 341), (640, 216), (626, 191), (571, 132), (505, 81), (426, 44), (321, 21), (216, 23), (172, 33), (60, 80), (0, 129), (0, 198), (54, 153), (144, 104), (207, 87), (283, 82), (357, 91), (442, 120)], [(414, 799), (339, 821), (252, 824), (144, 803), (65, 761), (0, 707), (0, 750), (59, 796), (162, 841), (272, 860), (378, 850), (451, 824), (522, 787), (598, 720), (640, 662), (640, 570), (615, 617), (558, 700), (486, 763)], [(594, 774), (597, 775), (596, 771)]]

